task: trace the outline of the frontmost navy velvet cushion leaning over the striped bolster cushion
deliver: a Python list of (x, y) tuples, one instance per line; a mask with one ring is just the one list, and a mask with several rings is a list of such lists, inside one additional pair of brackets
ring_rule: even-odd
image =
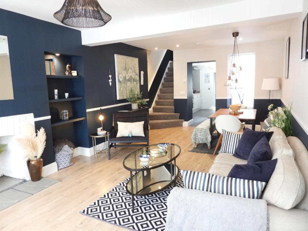
[(276, 163), (277, 159), (253, 164), (235, 164), (233, 168), (231, 168), (228, 177), (258, 180), (268, 183), (275, 170)]

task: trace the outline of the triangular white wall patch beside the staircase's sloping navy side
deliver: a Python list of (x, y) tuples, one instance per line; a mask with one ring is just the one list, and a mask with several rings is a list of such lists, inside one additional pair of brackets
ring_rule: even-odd
[(152, 85), (156, 72), (167, 50), (148, 51), (148, 90)]

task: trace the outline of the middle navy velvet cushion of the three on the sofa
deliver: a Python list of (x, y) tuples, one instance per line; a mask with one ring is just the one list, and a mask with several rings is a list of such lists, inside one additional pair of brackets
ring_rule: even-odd
[(247, 164), (271, 159), (272, 151), (270, 149), (270, 144), (266, 137), (263, 136), (251, 150)]

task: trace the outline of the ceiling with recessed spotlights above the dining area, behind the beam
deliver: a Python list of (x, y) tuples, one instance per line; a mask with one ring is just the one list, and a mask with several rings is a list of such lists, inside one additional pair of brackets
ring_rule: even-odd
[[(264, 41), (284, 39), (286, 31), (290, 24), (290, 19), (276, 22), (255, 23), (247, 22), (237, 23), (238, 26), (230, 26), (216, 30), (202, 30), (185, 34), (176, 34), (151, 39), (141, 39), (125, 42), (127, 44), (141, 47), (147, 50), (170, 49), (170, 50), (187, 50), (200, 49), (206, 47), (216, 47), (233, 45), (234, 40), (232, 32), (239, 31), (238, 44), (241, 43), (258, 43)], [(242, 40), (239, 40), (241, 38)], [(201, 45), (195, 45), (201, 43)], [(176, 47), (179, 44), (179, 47)]]

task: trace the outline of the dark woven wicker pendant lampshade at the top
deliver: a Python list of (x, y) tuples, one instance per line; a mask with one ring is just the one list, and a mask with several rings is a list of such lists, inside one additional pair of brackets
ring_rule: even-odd
[(67, 26), (99, 27), (111, 20), (97, 0), (65, 0), (54, 17)]

